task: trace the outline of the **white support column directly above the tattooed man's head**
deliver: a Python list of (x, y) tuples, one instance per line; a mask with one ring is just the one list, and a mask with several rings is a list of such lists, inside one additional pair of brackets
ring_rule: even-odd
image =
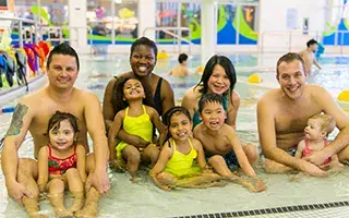
[(71, 46), (81, 49), (87, 47), (86, 0), (69, 0), (69, 27)]

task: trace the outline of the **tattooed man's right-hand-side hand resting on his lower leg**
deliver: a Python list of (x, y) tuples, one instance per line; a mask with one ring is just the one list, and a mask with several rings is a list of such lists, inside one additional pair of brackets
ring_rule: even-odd
[(91, 186), (96, 187), (100, 194), (108, 192), (110, 189), (110, 181), (106, 169), (96, 169), (93, 173), (88, 174), (86, 180), (86, 192), (89, 191)]

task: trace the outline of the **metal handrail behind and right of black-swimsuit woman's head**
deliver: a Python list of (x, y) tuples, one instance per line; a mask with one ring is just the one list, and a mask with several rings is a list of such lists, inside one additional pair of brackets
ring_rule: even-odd
[[(155, 31), (155, 32), (164, 32), (170, 36), (172, 36), (173, 38), (177, 39), (177, 44), (178, 44), (178, 48), (179, 48), (179, 52), (181, 52), (181, 45), (182, 45), (182, 41), (185, 41), (188, 43), (189, 45), (189, 53), (191, 53), (192, 51), (192, 45), (194, 45), (192, 43), (192, 31), (188, 27), (171, 27), (171, 26), (161, 26), (161, 27), (146, 27), (144, 31), (143, 31), (143, 35), (145, 35), (146, 32), (148, 31)], [(179, 31), (179, 34), (174, 34), (170, 31)], [(183, 38), (182, 37), (182, 32), (183, 31), (188, 31), (189, 32), (189, 39), (186, 38)]]

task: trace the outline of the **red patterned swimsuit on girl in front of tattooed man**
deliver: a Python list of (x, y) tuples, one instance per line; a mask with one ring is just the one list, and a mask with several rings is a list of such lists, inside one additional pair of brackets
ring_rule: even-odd
[(53, 157), (50, 146), (48, 146), (48, 172), (50, 174), (64, 174), (68, 169), (76, 168), (76, 145), (74, 146), (74, 153), (64, 159)]

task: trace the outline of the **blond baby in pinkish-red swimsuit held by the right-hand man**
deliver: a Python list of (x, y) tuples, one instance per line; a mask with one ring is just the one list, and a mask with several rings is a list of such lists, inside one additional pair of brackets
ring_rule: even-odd
[[(302, 140), (297, 147), (296, 158), (304, 158), (313, 152), (321, 150), (327, 146), (327, 136), (336, 126), (335, 119), (329, 114), (316, 114), (308, 120), (304, 129), (305, 138)], [(334, 169), (341, 169), (338, 156), (335, 154), (327, 158), (323, 167), (330, 167)]]

